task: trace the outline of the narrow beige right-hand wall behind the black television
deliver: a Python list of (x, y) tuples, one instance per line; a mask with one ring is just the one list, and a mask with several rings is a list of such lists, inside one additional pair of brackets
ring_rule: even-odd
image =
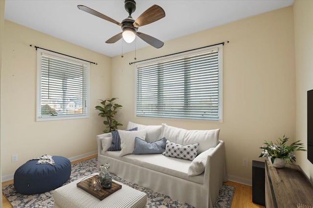
[[(313, 1), (295, 0), (294, 40), (296, 68), (296, 139), (307, 146), (307, 91), (313, 89)], [(307, 152), (299, 154), (298, 164), (313, 181), (313, 165)]]

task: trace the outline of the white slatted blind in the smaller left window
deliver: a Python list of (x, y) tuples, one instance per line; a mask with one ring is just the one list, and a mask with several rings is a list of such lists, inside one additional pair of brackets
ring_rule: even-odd
[(85, 115), (87, 73), (87, 64), (42, 53), (40, 115)]

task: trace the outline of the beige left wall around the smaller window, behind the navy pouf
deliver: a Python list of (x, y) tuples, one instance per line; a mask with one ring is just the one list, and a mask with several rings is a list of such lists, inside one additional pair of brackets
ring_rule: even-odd
[[(98, 63), (90, 65), (89, 119), (36, 122), (37, 51), (30, 44)], [(97, 150), (104, 125), (94, 106), (111, 96), (110, 57), (5, 20), (2, 58), (2, 177), (44, 154), (70, 158)]]

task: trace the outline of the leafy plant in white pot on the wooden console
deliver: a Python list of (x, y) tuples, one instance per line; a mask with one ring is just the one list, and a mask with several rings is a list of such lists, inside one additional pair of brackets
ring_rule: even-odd
[(287, 146), (289, 138), (285, 135), (283, 138), (278, 137), (276, 140), (277, 143), (265, 141), (266, 146), (260, 147), (262, 149), (261, 155), (259, 157), (268, 157), (269, 162), (274, 167), (284, 167), (286, 164), (290, 165), (289, 162), (295, 162), (294, 151), (307, 151), (304, 149), (304, 145), (300, 143), (300, 140), (291, 143), (290, 146)]

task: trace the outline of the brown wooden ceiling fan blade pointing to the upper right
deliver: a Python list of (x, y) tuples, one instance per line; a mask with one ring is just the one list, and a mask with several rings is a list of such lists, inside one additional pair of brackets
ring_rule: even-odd
[(159, 19), (162, 19), (165, 17), (165, 12), (164, 10), (158, 6), (158, 5), (153, 5), (146, 11), (144, 11), (136, 21), (134, 21), (133, 25), (134, 27), (139, 27), (143, 26), (146, 24), (150, 24), (154, 21), (158, 21)]

